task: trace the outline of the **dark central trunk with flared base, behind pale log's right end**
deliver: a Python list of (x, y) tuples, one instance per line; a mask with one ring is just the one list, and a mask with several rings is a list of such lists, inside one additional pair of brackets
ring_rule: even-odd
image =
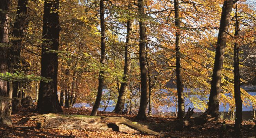
[[(144, 2), (138, 0), (138, 8), (140, 17), (144, 17)], [(146, 69), (146, 51), (145, 51), (145, 22), (143, 19), (139, 22), (140, 42), (139, 42), (139, 62), (140, 62), (140, 78), (141, 78), (141, 96), (140, 106), (137, 116), (138, 120), (147, 120), (147, 69)]]

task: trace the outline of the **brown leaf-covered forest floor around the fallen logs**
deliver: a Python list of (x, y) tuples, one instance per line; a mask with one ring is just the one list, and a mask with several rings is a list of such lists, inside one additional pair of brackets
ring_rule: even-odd
[[(62, 107), (65, 114), (77, 114), (77, 115), (90, 115), (91, 111), (81, 108), (64, 108)], [(63, 129), (48, 129), (48, 130), (38, 130), (35, 121), (27, 122), (23, 125), (16, 124), (21, 118), (28, 116), (39, 115), (32, 110), (20, 108), (20, 110), (11, 115), (13, 125), (10, 127), (0, 126), (0, 138), (156, 138), (157, 136), (143, 135), (131, 132), (114, 132), (114, 131), (85, 131), (85, 130), (63, 130)], [(98, 111), (98, 116), (109, 116), (109, 117), (120, 117), (123, 116), (132, 121), (135, 115), (130, 114), (115, 114), (112, 112), (101, 112)], [(172, 116), (158, 116), (153, 115), (149, 117), (147, 122), (163, 123), (166, 121), (175, 120)], [(233, 130), (228, 130), (223, 133), (220, 131), (220, 122), (224, 120), (219, 120), (216, 122), (207, 123), (204, 128), (198, 129), (199, 126), (184, 129), (182, 131), (168, 131), (163, 132), (164, 134), (174, 134), (182, 137), (189, 138), (232, 138), (232, 137), (244, 137), (244, 138), (256, 138), (256, 132), (247, 132), (242, 130), (241, 135), (234, 135)], [(142, 121), (136, 121), (142, 122)], [(226, 120), (227, 124), (234, 124), (234, 121)], [(252, 121), (243, 121), (244, 124), (254, 124)]]

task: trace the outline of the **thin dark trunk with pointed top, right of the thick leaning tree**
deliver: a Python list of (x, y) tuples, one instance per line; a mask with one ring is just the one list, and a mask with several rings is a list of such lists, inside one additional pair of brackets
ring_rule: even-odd
[[(236, 27), (235, 36), (239, 36), (239, 23), (237, 20), (237, 5), (236, 5)], [(242, 123), (242, 100), (241, 100), (241, 89), (240, 89), (240, 73), (239, 73), (239, 45), (238, 41), (234, 45), (234, 92), (235, 92), (235, 103), (236, 103), (236, 118), (234, 131), (240, 132), (240, 127)]]

